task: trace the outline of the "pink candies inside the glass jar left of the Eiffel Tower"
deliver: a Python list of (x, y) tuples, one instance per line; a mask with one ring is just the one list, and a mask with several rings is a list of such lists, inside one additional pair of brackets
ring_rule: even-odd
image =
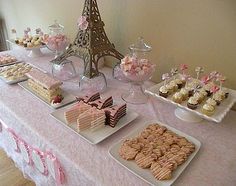
[(68, 38), (63, 34), (48, 36), (45, 41), (47, 46), (54, 51), (63, 51), (69, 44)]

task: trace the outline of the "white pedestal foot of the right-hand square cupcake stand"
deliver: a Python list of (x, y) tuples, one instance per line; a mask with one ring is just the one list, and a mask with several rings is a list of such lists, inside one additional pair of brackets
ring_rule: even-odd
[(198, 123), (203, 120), (201, 117), (197, 116), (196, 114), (193, 114), (181, 108), (175, 109), (175, 116), (183, 121), (187, 121), (190, 123)]

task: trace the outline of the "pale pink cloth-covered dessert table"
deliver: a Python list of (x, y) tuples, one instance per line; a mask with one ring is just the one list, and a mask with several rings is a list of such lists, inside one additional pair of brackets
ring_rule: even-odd
[[(28, 58), (24, 50), (9, 51), (16, 57), (42, 70), (51, 71), (49, 60), (53, 55), (46, 49), (40, 58)], [(78, 67), (80, 63), (78, 62)], [(121, 93), (128, 84), (112, 78), (111, 69), (104, 67), (108, 88), (102, 95), (112, 95), (122, 101)], [(146, 87), (153, 85), (151, 82)], [(78, 79), (66, 81), (63, 88), (79, 95)], [(184, 133), (195, 137), (201, 149), (174, 185), (229, 185), (236, 184), (236, 112), (230, 111), (219, 124), (203, 121), (187, 123), (175, 117), (175, 106), (150, 98), (144, 105), (130, 105), (139, 117), (97, 145), (91, 145), (65, 128), (50, 116), (53, 109), (26, 92), (20, 86), (0, 81), (0, 120), (20, 135), (26, 142), (41, 150), (51, 150), (59, 159), (65, 172), (62, 185), (148, 185), (114, 161), (108, 150), (113, 144), (146, 121), (158, 119)], [(56, 185), (51, 176), (42, 175), (23, 161), (19, 153), (9, 148), (4, 133), (0, 133), (0, 148), (11, 157), (24, 175), (37, 185)]]

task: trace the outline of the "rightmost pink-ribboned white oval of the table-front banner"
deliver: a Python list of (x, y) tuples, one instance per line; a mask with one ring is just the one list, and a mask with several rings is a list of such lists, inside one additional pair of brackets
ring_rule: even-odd
[(48, 170), (56, 180), (56, 185), (59, 186), (65, 181), (65, 174), (62, 170), (61, 164), (58, 161), (57, 157), (51, 152), (46, 152), (46, 157)]

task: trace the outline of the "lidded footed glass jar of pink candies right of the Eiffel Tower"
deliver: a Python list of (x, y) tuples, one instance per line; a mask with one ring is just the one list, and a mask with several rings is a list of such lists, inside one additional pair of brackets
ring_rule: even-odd
[(148, 53), (152, 50), (139, 38), (137, 44), (129, 47), (130, 54), (126, 55), (120, 64), (120, 68), (127, 79), (130, 80), (130, 88), (121, 95), (127, 103), (144, 104), (148, 97), (145, 95), (142, 85), (152, 77), (155, 65), (149, 62)]

